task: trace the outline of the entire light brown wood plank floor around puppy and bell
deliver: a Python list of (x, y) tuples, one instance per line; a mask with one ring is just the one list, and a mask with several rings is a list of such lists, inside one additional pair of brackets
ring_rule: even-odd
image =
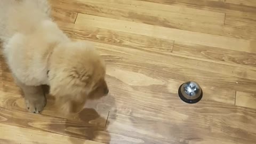
[[(256, 143), (255, 0), (51, 0), (73, 39), (107, 62), (108, 97), (76, 118), (26, 111), (0, 56), (0, 143)], [(178, 87), (196, 81), (188, 105)]]

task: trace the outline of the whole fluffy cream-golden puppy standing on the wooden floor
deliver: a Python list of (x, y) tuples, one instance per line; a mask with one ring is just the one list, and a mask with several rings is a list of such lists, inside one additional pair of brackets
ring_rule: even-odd
[(40, 113), (46, 104), (42, 85), (50, 86), (64, 114), (108, 93), (104, 61), (93, 45), (73, 42), (59, 29), (47, 0), (1, 0), (0, 38), (30, 112)]

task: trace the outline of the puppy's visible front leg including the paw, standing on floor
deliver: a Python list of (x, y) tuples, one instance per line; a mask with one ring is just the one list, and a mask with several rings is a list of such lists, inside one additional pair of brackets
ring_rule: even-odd
[(27, 109), (31, 113), (39, 114), (46, 105), (46, 98), (42, 86), (28, 86), (19, 81), (16, 81), (16, 83), (25, 94)]

